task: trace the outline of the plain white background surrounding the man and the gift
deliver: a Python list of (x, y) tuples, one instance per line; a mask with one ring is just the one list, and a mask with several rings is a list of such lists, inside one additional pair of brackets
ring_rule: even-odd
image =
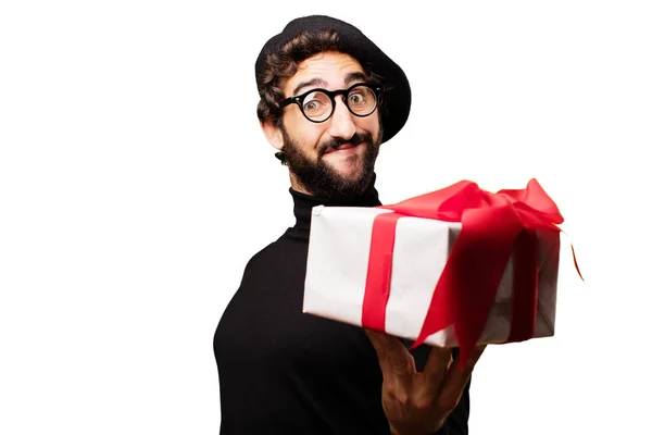
[(293, 223), (254, 60), (311, 13), (410, 77), (385, 203), (536, 177), (566, 219), (556, 336), (486, 351), (472, 433), (650, 433), (649, 3), (1, 3), (0, 433), (218, 432), (214, 328)]

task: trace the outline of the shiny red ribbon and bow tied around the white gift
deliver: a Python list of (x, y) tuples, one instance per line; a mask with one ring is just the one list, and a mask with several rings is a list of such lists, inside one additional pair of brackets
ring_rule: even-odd
[[(439, 277), (422, 331), (413, 344), (453, 325), (460, 364), (471, 357), (487, 323), (510, 257), (514, 254), (512, 325), (505, 343), (530, 339), (538, 299), (536, 229), (560, 232), (556, 204), (532, 178), (527, 188), (497, 194), (473, 182), (381, 206), (393, 213), (375, 217), (363, 301), (362, 326), (385, 331), (397, 221), (402, 216), (461, 222), (462, 231)], [(575, 253), (574, 253), (575, 260)], [(577, 272), (577, 262), (575, 262)], [(580, 274), (581, 277), (581, 274)]]

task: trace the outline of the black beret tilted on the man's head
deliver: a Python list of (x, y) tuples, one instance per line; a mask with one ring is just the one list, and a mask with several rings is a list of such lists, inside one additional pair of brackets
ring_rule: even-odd
[(383, 141), (391, 139), (405, 125), (410, 115), (412, 94), (403, 70), (383, 52), (360, 29), (341, 20), (326, 15), (311, 15), (292, 20), (283, 32), (272, 37), (261, 50), (255, 61), (255, 82), (259, 92), (265, 58), (275, 53), (290, 39), (302, 32), (318, 33), (333, 29), (339, 35), (341, 51), (352, 55), (367, 71), (380, 76), (387, 90), (383, 94)]

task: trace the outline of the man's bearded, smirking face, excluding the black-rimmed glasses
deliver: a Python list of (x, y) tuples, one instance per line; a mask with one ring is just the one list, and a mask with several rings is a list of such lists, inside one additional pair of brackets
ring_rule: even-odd
[[(348, 54), (319, 53), (301, 62), (283, 84), (284, 97), (314, 88), (347, 89), (363, 83), (364, 75), (360, 63)], [(278, 144), (286, 153), (292, 185), (300, 191), (322, 197), (360, 195), (373, 177), (381, 135), (378, 110), (356, 116), (343, 98), (335, 97), (335, 111), (322, 123), (309, 121), (298, 104), (284, 109)]]

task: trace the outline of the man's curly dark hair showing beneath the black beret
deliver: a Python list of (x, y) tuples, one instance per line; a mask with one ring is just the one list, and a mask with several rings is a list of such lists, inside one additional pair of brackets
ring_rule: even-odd
[[(256, 110), (261, 122), (268, 121), (277, 127), (281, 126), (283, 111), (279, 107), (280, 101), (284, 100), (281, 86), (286, 79), (297, 73), (300, 62), (324, 51), (347, 53), (337, 32), (323, 30), (316, 34), (303, 32), (286, 42), (278, 52), (267, 54), (261, 74), (259, 88), (261, 99)], [(369, 82), (381, 84), (378, 75), (367, 71), (365, 65), (362, 66)], [(378, 110), (383, 110), (381, 99), (378, 102)]]

